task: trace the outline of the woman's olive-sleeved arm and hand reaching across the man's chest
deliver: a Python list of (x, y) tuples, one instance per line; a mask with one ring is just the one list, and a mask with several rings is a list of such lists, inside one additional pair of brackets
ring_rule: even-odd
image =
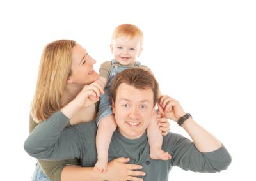
[[(51, 121), (51, 117), (50, 117)], [(37, 124), (30, 118), (29, 131)], [(45, 175), (52, 181), (65, 181), (65, 180), (142, 180), (136, 176), (145, 175), (142, 171), (132, 171), (140, 169), (141, 166), (136, 164), (126, 164), (129, 159), (118, 158), (108, 163), (108, 174), (99, 174), (93, 171), (91, 167), (72, 166), (66, 164), (79, 164), (77, 159), (63, 160), (63, 161), (46, 161), (38, 160)], [(72, 178), (72, 179), (70, 179)]]

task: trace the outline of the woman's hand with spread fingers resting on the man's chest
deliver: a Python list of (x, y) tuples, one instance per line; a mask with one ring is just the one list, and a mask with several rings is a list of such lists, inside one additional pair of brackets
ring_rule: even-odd
[(120, 157), (113, 159), (108, 163), (108, 172), (104, 173), (104, 180), (120, 181), (120, 180), (132, 180), (142, 181), (142, 178), (137, 176), (145, 176), (143, 171), (134, 171), (141, 169), (142, 166), (138, 164), (127, 164), (129, 158)]

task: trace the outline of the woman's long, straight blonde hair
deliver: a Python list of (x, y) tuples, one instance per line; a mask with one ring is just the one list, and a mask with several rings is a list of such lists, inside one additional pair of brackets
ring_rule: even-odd
[(31, 116), (35, 122), (42, 122), (62, 107), (75, 45), (73, 40), (58, 40), (44, 48), (31, 104)]

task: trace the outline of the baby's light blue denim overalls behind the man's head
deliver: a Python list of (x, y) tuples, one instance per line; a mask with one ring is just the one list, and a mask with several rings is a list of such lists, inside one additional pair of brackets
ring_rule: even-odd
[[(136, 64), (134, 65), (134, 67), (140, 67), (140, 66), (141, 66), (141, 63), (139, 61), (136, 61)], [(100, 95), (99, 112), (97, 113), (97, 117), (95, 119), (97, 122), (97, 125), (99, 125), (99, 122), (103, 117), (106, 117), (113, 113), (110, 87), (115, 76), (127, 68), (128, 68), (127, 66), (122, 66), (121, 64), (116, 62), (115, 59), (111, 61), (111, 71), (109, 73), (108, 83), (104, 89), (105, 94)]]

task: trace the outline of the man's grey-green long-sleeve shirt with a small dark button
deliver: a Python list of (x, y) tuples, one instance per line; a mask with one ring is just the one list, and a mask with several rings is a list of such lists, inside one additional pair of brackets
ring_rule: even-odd
[[(82, 166), (94, 166), (97, 161), (95, 122), (84, 122), (65, 128), (69, 119), (61, 111), (40, 123), (24, 143), (26, 152), (37, 159), (61, 160), (81, 158)], [(168, 161), (149, 157), (147, 134), (138, 139), (128, 139), (119, 131), (113, 133), (108, 161), (117, 157), (129, 157), (132, 164), (143, 166), (147, 174), (143, 180), (168, 180), (172, 166), (184, 170), (215, 173), (225, 170), (231, 157), (224, 146), (213, 152), (202, 153), (191, 140), (180, 134), (163, 136), (162, 149), (172, 155)]]

